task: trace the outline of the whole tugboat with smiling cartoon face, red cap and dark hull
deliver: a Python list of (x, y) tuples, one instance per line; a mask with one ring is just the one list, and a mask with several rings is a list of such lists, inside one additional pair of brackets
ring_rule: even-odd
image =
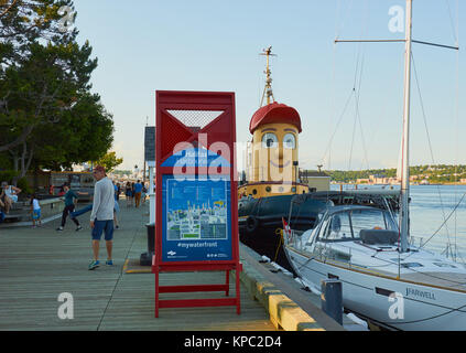
[[(269, 58), (261, 107), (253, 114), (247, 150), (247, 170), (238, 188), (239, 238), (259, 255), (295, 274), (284, 253), (283, 221), (297, 232), (312, 229), (328, 205), (364, 205), (399, 211), (399, 192), (386, 190), (330, 191), (330, 178), (321, 172), (300, 172), (296, 109), (274, 101)], [(267, 105), (263, 100), (267, 97)], [(247, 174), (247, 176), (246, 176)], [(324, 182), (322, 182), (324, 180)]]

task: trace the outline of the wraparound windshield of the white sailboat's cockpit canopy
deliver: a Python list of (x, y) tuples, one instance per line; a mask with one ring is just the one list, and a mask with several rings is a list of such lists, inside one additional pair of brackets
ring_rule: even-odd
[(329, 216), (329, 222), (321, 232), (319, 238), (323, 242), (359, 240), (360, 232), (367, 229), (397, 232), (397, 225), (382, 210), (347, 210)]

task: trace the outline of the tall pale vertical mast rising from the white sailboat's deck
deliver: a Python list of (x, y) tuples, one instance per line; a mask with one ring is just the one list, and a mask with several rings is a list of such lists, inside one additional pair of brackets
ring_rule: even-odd
[(412, 49), (412, 7), (413, 1), (407, 0), (407, 30), (404, 57), (404, 110), (402, 135), (402, 173), (401, 173), (401, 207), (400, 207), (400, 252), (408, 252), (410, 235), (410, 115), (411, 115), (411, 49)]

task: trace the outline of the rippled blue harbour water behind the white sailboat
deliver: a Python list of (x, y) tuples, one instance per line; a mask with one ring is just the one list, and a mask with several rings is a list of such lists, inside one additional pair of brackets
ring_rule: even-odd
[[(359, 190), (381, 188), (389, 189), (391, 186), (358, 185)], [(355, 189), (355, 186), (344, 186), (344, 190), (348, 189)], [(340, 185), (334, 184), (332, 190), (340, 190)], [(465, 194), (466, 185), (411, 185), (410, 224), (414, 244), (419, 245), (421, 240), (422, 243), (427, 242), (424, 246), (425, 249), (441, 254), (445, 252), (449, 243), (453, 259), (466, 264)], [(448, 254), (452, 258), (452, 252)]]

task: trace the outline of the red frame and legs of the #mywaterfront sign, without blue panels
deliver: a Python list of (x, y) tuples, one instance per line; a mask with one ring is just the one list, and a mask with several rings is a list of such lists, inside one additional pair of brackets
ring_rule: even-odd
[[(182, 113), (175, 117), (174, 111)], [(212, 113), (218, 113), (215, 116)], [(204, 116), (203, 116), (204, 114)], [(199, 139), (199, 135), (207, 136), (206, 139)], [(152, 272), (155, 275), (155, 318), (159, 317), (160, 308), (184, 308), (184, 307), (223, 307), (236, 306), (237, 313), (240, 313), (240, 286), (239, 274), (242, 266), (239, 261), (239, 238), (238, 238), (238, 196), (236, 182), (236, 122), (235, 122), (235, 94), (234, 93), (205, 93), (205, 92), (156, 92), (156, 148), (155, 148), (155, 168), (156, 168), (156, 218), (155, 218), (155, 255), (152, 260)], [(202, 146), (210, 151), (214, 143), (228, 146), (229, 151), (221, 157), (228, 161), (228, 168), (216, 168), (218, 174), (229, 178), (230, 181), (230, 224), (229, 234), (231, 236), (231, 257), (226, 260), (166, 260), (163, 257), (163, 176), (174, 175), (175, 170), (172, 167), (162, 165), (171, 156), (176, 153), (174, 150), (180, 142), (188, 142), (195, 146)], [(216, 149), (216, 148), (215, 148)], [(218, 154), (219, 151), (213, 151)], [(195, 167), (195, 175), (208, 174), (208, 168)], [(208, 178), (208, 176), (207, 176)], [(229, 274), (236, 271), (236, 293), (229, 296)], [(225, 271), (225, 284), (220, 285), (186, 285), (186, 286), (160, 286), (160, 272), (171, 271)], [(166, 292), (195, 292), (195, 291), (225, 291), (228, 298), (218, 299), (182, 299), (182, 300), (161, 300), (160, 293)]]

